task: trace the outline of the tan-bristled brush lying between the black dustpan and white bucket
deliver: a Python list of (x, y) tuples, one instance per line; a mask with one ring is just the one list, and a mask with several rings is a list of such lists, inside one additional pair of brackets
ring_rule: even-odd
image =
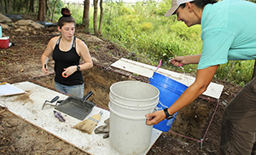
[(102, 113), (99, 112), (98, 114), (95, 114), (91, 116), (88, 119), (85, 119), (84, 121), (77, 123), (73, 126), (75, 129), (79, 129), (82, 132), (91, 134), (93, 129), (96, 128), (97, 124), (99, 123), (100, 119), (102, 118)]

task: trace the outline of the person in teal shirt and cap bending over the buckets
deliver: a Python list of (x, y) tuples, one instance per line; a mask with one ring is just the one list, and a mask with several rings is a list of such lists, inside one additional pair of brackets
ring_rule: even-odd
[[(173, 66), (198, 64), (191, 84), (166, 112), (146, 115), (147, 124), (170, 117), (207, 90), (218, 66), (228, 60), (256, 59), (256, 4), (241, 0), (172, 0), (165, 16), (177, 14), (188, 27), (201, 25), (201, 55), (177, 56)], [(220, 154), (256, 155), (256, 78), (224, 110)]]

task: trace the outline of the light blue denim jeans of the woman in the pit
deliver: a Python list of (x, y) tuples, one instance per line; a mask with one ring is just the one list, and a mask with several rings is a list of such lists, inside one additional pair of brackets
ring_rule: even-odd
[(68, 95), (77, 96), (79, 98), (84, 97), (84, 83), (80, 85), (67, 86), (61, 83), (55, 82), (55, 89), (60, 90)]

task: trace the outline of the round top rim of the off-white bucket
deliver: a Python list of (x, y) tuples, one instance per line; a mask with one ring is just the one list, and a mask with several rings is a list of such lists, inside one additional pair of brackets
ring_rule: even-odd
[(155, 98), (158, 98), (159, 95), (160, 95), (160, 91), (159, 89), (157, 89), (156, 87), (154, 87), (154, 85), (151, 85), (149, 83), (143, 83), (143, 84), (147, 84), (148, 86), (154, 88), (157, 90), (158, 92), (158, 95), (152, 97), (152, 98), (148, 98), (148, 99), (129, 99), (129, 98), (126, 98), (126, 97), (123, 97), (123, 96), (120, 96), (120, 95), (117, 95), (116, 93), (113, 93), (113, 91), (111, 91), (113, 89), (113, 86), (116, 85), (116, 84), (119, 84), (119, 83), (143, 83), (143, 82), (140, 82), (140, 81), (120, 81), (120, 82), (117, 82), (117, 83), (113, 83), (111, 86), (110, 86), (110, 92), (113, 94), (113, 95), (116, 95), (116, 96), (119, 96), (119, 98), (121, 99), (125, 99), (125, 100), (131, 100), (131, 101), (148, 101), (148, 100), (154, 100)]

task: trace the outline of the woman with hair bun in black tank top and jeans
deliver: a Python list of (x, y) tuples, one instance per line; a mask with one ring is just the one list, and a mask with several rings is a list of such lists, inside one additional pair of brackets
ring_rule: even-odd
[[(58, 31), (61, 36), (49, 40), (47, 48), (41, 57), (42, 72), (47, 74), (47, 62), (52, 55), (55, 60), (55, 89), (77, 97), (84, 96), (83, 70), (90, 69), (93, 64), (89, 49), (79, 38), (74, 37), (75, 20), (69, 9), (61, 9), (63, 15), (58, 21)], [(84, 63), (80, 64), (80, 58)]]

